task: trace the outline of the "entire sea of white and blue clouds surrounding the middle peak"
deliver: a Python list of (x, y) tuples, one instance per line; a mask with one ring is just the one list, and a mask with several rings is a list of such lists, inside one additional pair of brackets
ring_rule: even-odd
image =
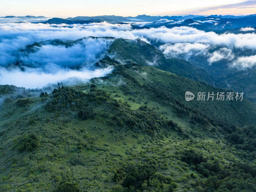
[[(93, 64), (108, 54), (115, 37), (140, 38), (156, 45), (166, 57), (203, 55), (208, 65), (227, 60), (231, 67), (252, 68), (256, 55), (237, 55), (234, 50), (256, 50), (256, 34), (216, 34), (193, 27), (133, 29), (130, 24), (32, 24), (0, 23), (0, 84), (36, 88), (65, 79), (86, 80), (104, 76), (112, 68)], [(26, 50), (27, 45), (52, 39), (77, 40), (70, 46), (43, 44)]]

